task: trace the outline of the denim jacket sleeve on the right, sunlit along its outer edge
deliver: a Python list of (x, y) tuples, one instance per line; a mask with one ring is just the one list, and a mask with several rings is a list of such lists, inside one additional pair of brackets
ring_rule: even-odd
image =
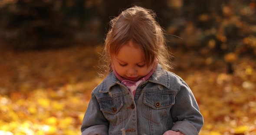
[(203, 126), (203, 116), (192, 91), (183, 80), (181, 82), (175, 103), (171, 107), (174, 120), (171, 130), (180, 131), (184, 135), (198, 135)]

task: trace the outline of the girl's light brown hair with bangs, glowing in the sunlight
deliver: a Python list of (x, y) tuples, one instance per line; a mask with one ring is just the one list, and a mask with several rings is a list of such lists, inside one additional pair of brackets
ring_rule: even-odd
[(144, 51), (147, 65), (158, 61), (164, 69), (172, 69), (164, 32), (155, 17), (152, 10), (133, 6), (110, 21), (102, 57), (107, 73), (112, 71), (112, 56), (117, 55), (119, 48), (129, 41), (137, 43)]

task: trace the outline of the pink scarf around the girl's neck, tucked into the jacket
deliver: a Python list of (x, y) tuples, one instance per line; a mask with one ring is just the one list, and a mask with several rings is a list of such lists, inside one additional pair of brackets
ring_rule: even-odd
[(133, 97), (135, 96), (135, 92), (139, 84), (143, 82), (144, 80), (148, 80), (148, 78), (154, 73), (154, 68), (144, 77), (142, 77), (140, 80), (137, 81), (132, 81), (132, 80), (127, 80), (124, 77), (121, 77), (116, 71), (115, 68), (113, 68), (113, 72), (115, 76), (117, 77), (118, 80), (121, 81), (122, 84), (124, 84), (132, 93)]

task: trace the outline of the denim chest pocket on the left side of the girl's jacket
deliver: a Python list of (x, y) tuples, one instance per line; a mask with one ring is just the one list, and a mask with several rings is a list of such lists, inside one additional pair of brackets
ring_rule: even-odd
[(110, 124), (115, 126), (122, 122), (120, 110), (123, 106), (122, 96), (100, 99), (99, 105), (102, 113)]

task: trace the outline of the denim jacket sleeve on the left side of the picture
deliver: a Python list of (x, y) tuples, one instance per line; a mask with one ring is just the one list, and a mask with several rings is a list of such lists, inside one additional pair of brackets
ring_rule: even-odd
[(108, 120), (93, 93), (82, 121), (81, 132), (82, 135), (108, 135)]

